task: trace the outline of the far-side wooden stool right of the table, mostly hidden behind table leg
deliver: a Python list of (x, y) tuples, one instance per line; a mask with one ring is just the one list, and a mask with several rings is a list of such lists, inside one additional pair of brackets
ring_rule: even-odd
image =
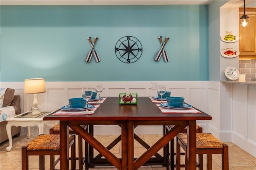
[[(172, 125), (165, 125), (164, 126), (164, 133), (167, 133), (168, 131), (170, 131), (174, 126)], [(187, 127), (185, 129), (183, 129), (183, 131), (181, 131), (180, 133), (187, 133)], [(196, 124), (196, 133), (203, 133), (203, 128)], [(170, 149), (170, 151), (169, 151)], [(176, 153), (174, 152), (174, 139), (172, 139), (170, 141), (170, 148), (169, 148), (169, 143), (166, 145), (166, 147), (164, 148), (164, 151), (166, 154), (166, 170), (174, 170), (174, 168), (176, 167), (176, 165), (174, 164), (174, 156), (176, 155)], [(180, 153), (181, 155), (185, 155), (184, 152)], [(197, 165), (198, 166), (198, 165)], [(181, 164), (180, 167), (185, 167), (185, 164)]]

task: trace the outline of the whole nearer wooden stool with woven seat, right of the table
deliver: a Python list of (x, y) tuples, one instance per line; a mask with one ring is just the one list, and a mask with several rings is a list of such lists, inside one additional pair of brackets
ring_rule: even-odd
[[(180, 147), (185, 150), (186, 160), (186, 133), (179, 133), (176, 138), (176, 170), (180, 170)], [(222, 170), (228, 170), (228, 145), (214, 137), (211, 133), (196, 134), (196, 154), (199, 154), (200, 157), (198, 162), (200, 170), (203, 170), (202, 154), (207, 154), (207, 170), (212, 170), (212, 154), (222, 154)]]

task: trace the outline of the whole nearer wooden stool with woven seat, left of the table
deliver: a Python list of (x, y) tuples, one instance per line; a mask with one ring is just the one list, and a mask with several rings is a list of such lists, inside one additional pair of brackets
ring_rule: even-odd
[[(69, 135), (69, 148), (71, 147), (71, 169), (76, 169), (76, 135)], [(39, 135), (21, 149), (22, 170), (28, 170), (28, 156), (39, 155), (39, 169), (44, 170), (44, 156), (50, 155), (50, 170), (59, 162), (54, 155), (60, 155), (60, 135)]]

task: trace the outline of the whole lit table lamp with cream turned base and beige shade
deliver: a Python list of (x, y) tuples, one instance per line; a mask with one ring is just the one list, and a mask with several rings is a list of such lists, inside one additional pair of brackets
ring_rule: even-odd
[(33, 109), (33, 112), (31, 113), (32, 115), (40, 114), (40, 112), (38, 111), (38, 108), (37, 108), (37, 105), (38, 105), (37, 94), (44, 93), (44, 92), (46, 92), (44, 78), (25, 79), (24, 93), (25, 94), (34, 94), (34, 102), (33, 102), (34, 109)]

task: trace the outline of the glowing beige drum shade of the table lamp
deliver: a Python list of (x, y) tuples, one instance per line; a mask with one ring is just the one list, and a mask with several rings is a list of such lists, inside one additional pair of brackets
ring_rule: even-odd
[(46, 92), (44, 78), (25, 79), (24, 93), (35, 94), (44, 92)]

